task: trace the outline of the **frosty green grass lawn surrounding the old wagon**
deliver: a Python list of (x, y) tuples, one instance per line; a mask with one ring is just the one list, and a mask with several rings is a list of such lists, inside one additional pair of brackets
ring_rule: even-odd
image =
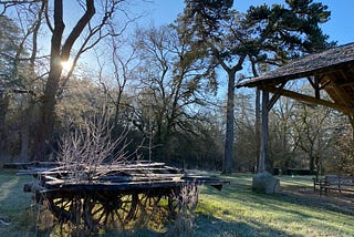
[[(222, 176), (230, 185), (219, 192), (202, 187), (194, 228), (186, 236), (353, 236), (354, 197), (331, 194), (319, 197), (312, 177), (282, 176), (282, 192), (262, 195), (251, 190), (251, 174)], [(35, 208), (31, 194), (23, 193), (29, 176), (0, 169), (1, 236), (35, 236)], [(169, 228), (169, 230), (168, 230)], [(175, 236), (173, 224), (153, 229), (129, 230), (126, 236)], [(50, 234), (51, 233), (51, 234)], [(59, 236), (48, 230), (45, 235)], [(79, 234), (77, 234), (79, 236)], [(82, 235), (80, 235), (82, 236)], [(116, 236), (106, 233), (105, 236)]]

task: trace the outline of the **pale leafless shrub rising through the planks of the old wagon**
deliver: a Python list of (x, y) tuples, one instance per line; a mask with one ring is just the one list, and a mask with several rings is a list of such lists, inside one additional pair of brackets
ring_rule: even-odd
[(58, 159), (70, 171), (73, 181), (92, 181), (102, 164), (123, 164), (132, 157), (126, 152), (128, 128), (124, 128), (114, 140), (113, 128), (108, 113), (85, 120), (80, 127), (69, 127), (62, 137)]

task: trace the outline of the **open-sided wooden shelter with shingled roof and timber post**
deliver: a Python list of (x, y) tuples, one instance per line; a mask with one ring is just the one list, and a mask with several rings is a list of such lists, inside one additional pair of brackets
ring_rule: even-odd
[[(287, 89), (290, 81), (306, 79), (311, 94)], [(329, 106), (348, 115), (354, 137), (354, 42), (313, 53), (270, 71), (263, 75), (244, 81), (238, 87), (259, 87), (262, 90), (262, 128), (260, 137), (260, 171), (266, 171), (268, 156), (268, 112), (280, 96), (312, 104)], [(329, 96), (321, 97), (325, 91)], [(269, 93), (272, 97), (269, 99)]]

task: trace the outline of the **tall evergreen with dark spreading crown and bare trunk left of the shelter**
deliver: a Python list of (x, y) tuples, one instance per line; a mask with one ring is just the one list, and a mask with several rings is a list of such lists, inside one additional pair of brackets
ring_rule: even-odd
[(281, 64), (303, 52), (327, 47), (319, 24), (330, 17), (327, 7), (312, 0), (287, 0), (287, 6), (250, 7), (242, 14), (233, 1), (186, 0), (178, 21), (188, 22), (196, 49), (209, 52), (228, 74), (227, 128), (223, 173), (232, 171), (236, 73), (247, 59), (256, 63)]

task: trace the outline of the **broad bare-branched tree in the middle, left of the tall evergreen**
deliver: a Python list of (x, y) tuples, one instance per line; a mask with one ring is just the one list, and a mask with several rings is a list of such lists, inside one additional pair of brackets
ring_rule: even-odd
[(190, 121), (198, 120), (198, 112), (192, 111), (208, 104), (215, 71), (209, 59), (196, 56), (184, 32), (152, 28), (138, 31), (136, 39), (142, 81), (133, 122), (144, 134), (154, 134), (154, 144), (162, 145), (160, 155), (168, 159), (178, 131), (194, 133)]

